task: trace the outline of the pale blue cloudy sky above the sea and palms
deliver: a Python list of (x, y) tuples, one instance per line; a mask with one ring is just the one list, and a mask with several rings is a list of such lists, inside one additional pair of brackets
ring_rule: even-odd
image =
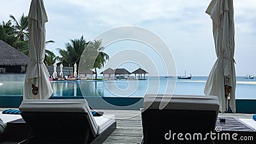
[[(82, 35), (88, 42), (108, 29), (121, 26), (136, 26), (152, 31), (159, 36), (172, 52), (177, 75), (208, 76), (216, 53), (212, 37), (212, 20), (205, 13), (211, 0), (45, 0), (48, 20), (46, 40), (56, 43), (46, 45), (46, 49), (59, 55), (56, 49)], [(0, 20), (6, 22), (12, 14), (16, 19), (24, 13), (28, 15), (30, 0), (0, 0)], [(256, 1), (234, 0), (234, 22), (236, 42), (236, 74), (256, 75)], [(113, 56), (118, 49), (143, 51), (157, 65), (157, 56), (148, 45), (126, 41), (108, 45), (104, 52)], [(122, 52), (120, 52), (121, 54)], [(141, 58), (141, 61), (145, 61)], [(130, 63), (131, 64), (131, 63)], [(165, 63), (168, 65), (168, 61)], [(161, 71), (161, 64), (157, 65)], [(106, 66), (107, 67), (107, 66)], [(120, 64), (128, 70), (143, 67)], [(101, 72), (101, 70), (99, 70)], [(160, 72), (160, 75), (164, 75)]]

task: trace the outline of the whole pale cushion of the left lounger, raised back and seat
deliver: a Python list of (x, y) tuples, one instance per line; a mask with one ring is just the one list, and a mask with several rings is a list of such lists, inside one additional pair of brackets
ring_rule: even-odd
[(84, 99), (23, 100), (20, 111), (81, 112), (88, 113), (97, 134), (101, 134), (115, 122), (115, 115), (93, 116)]

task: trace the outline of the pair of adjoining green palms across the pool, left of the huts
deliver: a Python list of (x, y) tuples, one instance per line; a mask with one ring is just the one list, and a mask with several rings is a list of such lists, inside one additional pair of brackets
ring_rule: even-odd
[[(85, 51), (84, 51), (85, 49)], [(93, 42), (86, 42), (84, 37), (79, 39), (70, 40), (66, 44), (66, 49), (58, 49), (60, 55), (60, 63), (65, 66), (74, 65), (80, 63), (82, 54), (84, 60), (81, 60), (84, 70), (95, 69), (95, 79), (97, 79), (97, 68), (104, 67), (104, 63), (109, 59), (108, 54), (102, 52), (104, 47), (101, 40), (94, 40)]]

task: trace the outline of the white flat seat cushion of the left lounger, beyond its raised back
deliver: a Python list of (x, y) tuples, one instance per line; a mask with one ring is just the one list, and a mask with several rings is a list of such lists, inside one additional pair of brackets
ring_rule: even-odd
[(116, 121), (115, 115), (93, 116), (93, 118), (98, 125), (97, 135), (104, 132), (111, 124)]

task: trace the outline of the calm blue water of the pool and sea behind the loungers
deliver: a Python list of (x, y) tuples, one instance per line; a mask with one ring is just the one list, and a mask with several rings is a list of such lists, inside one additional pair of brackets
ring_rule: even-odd
[[(150, 77), (146, 81), (57, 81), (52, 82), (52, 97), (143, 97), (145, 93), (172, 93), (173, 79)], [(175, 94), (204, 95), (207, 77), (177, 80)], [(22, 95), (23, 82), (1, 82), (0, 96)], [(166, 88), (169, 84), (170, 87)], [(167, 89), (167, 92), (166, 92)], [(256, 99), (256, 79), (237, 77), (236, 99)]]

